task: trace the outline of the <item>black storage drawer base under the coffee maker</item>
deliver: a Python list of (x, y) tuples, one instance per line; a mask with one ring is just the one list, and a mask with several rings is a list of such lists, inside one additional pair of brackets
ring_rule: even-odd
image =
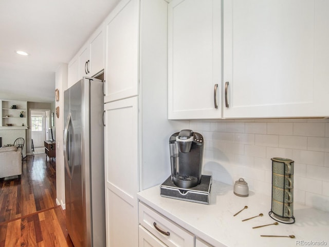
[(171, 176), (160, 185), (160, 196), (178, 200), (209, 204), (212, 178), (202, 175), (201, 182), (192, 188), (180, 188), (171, 180)]

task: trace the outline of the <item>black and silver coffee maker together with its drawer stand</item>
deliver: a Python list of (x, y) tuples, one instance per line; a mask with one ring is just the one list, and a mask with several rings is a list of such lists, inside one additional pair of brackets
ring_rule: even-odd
[(204, 138), (192, 130), (170, 136), (171, 176), (160, 186), (163, 197), (209, 204), (211, 176), (202, 175)]

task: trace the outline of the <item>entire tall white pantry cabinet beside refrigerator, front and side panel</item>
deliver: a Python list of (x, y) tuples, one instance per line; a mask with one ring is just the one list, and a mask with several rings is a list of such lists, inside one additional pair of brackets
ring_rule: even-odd
[(167, 6), (123, 0), (105, 20), (107, 246), (138, 246), (136, 194), (166, 180), (169, 137), (188, 126), (167, 118)]

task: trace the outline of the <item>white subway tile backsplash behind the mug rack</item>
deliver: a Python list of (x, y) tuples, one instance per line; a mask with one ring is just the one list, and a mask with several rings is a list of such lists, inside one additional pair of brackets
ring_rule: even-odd
[[(272, 157), (295, 161), (294, 202), (329, 211), (329, 120), (190, 121), (206, 140), (204, 174), (271, 196)], [(270, 203), (269, 203), (270, 209)]]

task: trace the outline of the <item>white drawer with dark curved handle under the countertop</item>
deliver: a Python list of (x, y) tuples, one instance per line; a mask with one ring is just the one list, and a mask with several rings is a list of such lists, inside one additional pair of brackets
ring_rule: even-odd
[(139, 223), (170, 247), (194, 246), (194, 235), (142, 203), (139, 203)]

